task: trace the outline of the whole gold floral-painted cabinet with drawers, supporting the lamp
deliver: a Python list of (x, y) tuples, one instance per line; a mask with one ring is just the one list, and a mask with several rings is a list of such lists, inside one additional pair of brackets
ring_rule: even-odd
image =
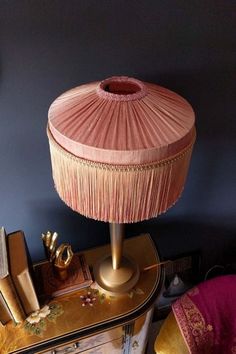
[[(92, 267), (109, 250), (110, 245), (106, 245), (83, 254)], [(25, 321), (15, 326), (9, 322), (0, 328), (0, 353), (144, 353), (153, 304), (162, 286), (163, 268), (150, 267), (160, 260), (149, 235), (126, 239), (124, 250), (141, 270), (132, 291), (110, 296), (94, 284), (53, 299), (36, 315), (37, 323)], [(86, 302), (87, 298), (91, 301)]]

